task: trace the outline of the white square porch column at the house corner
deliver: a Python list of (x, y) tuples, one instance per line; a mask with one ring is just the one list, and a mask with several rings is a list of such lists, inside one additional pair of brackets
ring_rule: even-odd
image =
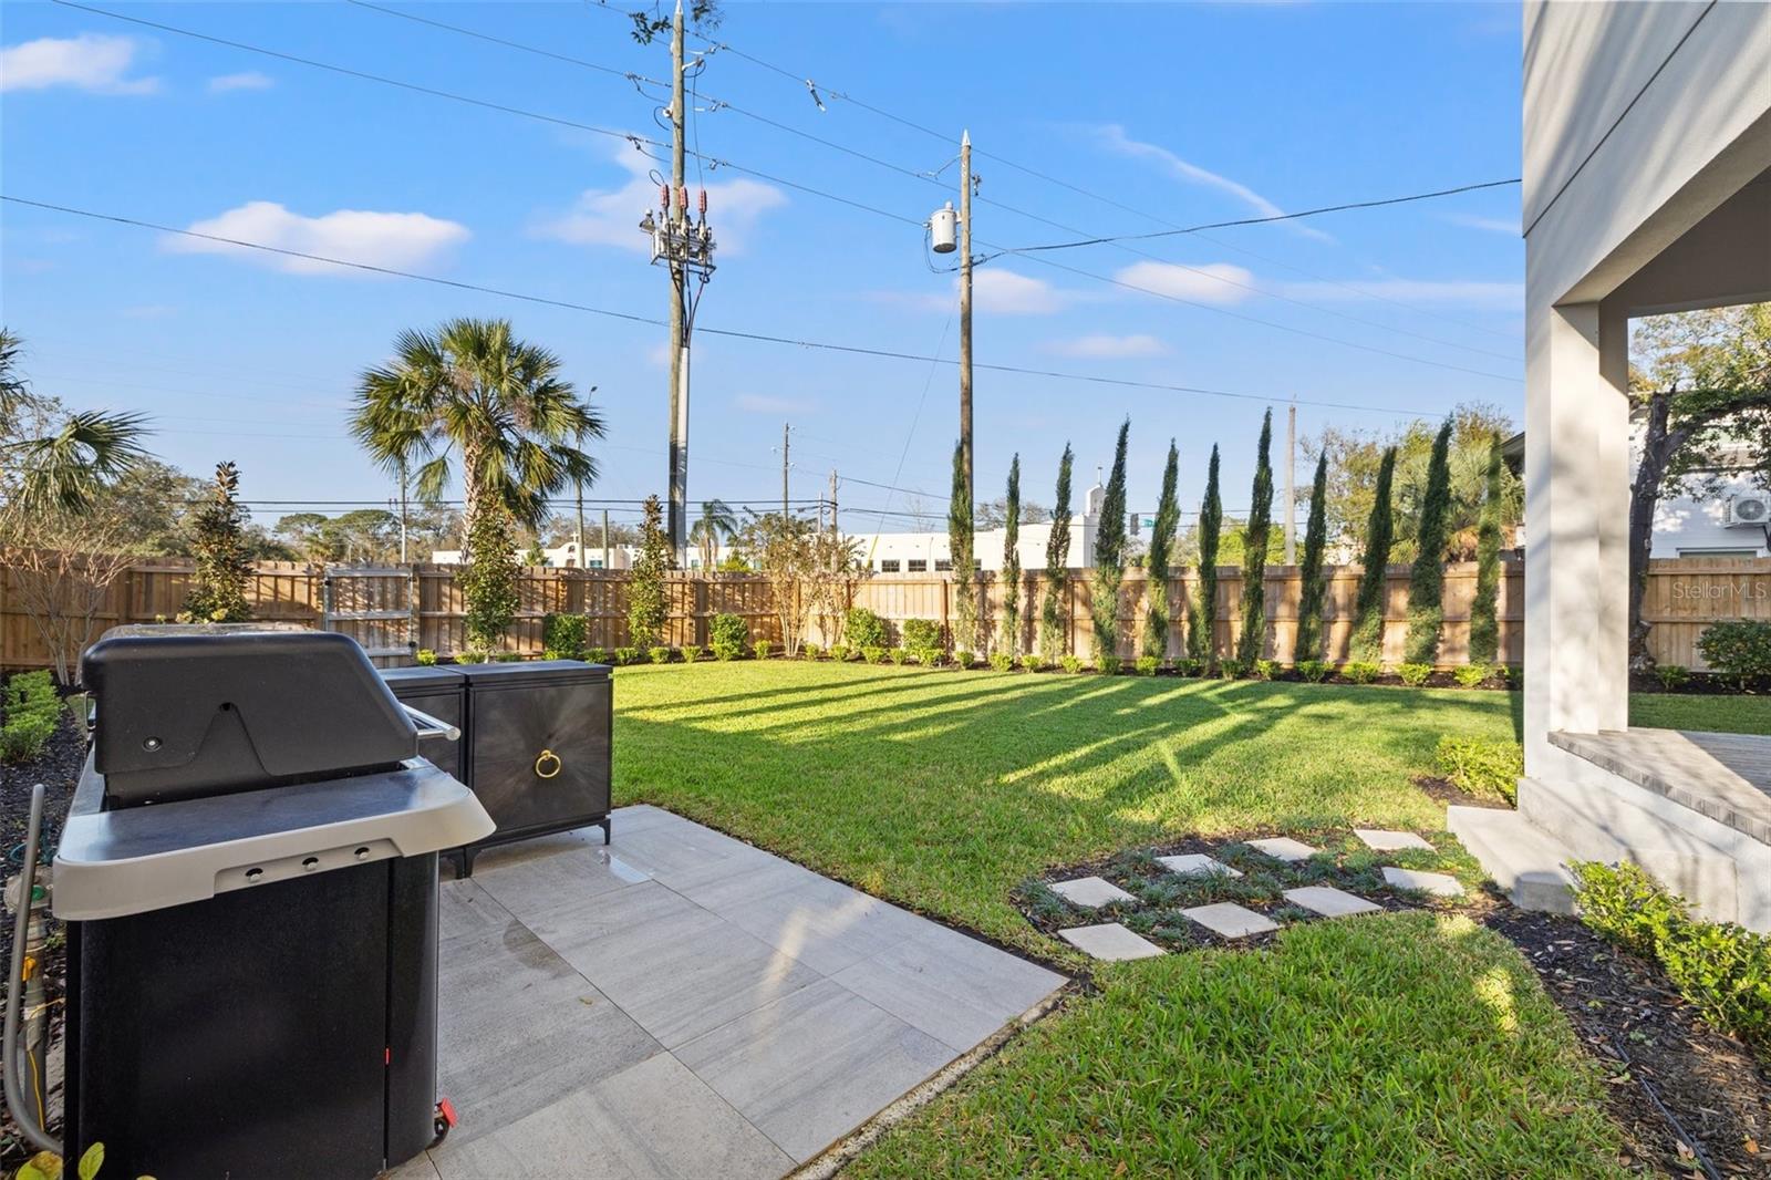
[[(1601, 319), (1605, 321), (1601, 324)], [(1603, 328), (1603, 331), (1601, 331)], [(1534, 308), (1525, 361), (1525, 772), (1546, 734), (1629, 725), (1629, 415), (1622, 317)]]

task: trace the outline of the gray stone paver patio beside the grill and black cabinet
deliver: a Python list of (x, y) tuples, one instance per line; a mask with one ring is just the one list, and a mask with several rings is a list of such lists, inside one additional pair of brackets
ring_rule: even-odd
[(443, 884), (437, 1081), (460, 1125), (398, 1175), (779, 1176), (1063, 983), (622, 808), (607, 849), (597, 829), (489, 849)]

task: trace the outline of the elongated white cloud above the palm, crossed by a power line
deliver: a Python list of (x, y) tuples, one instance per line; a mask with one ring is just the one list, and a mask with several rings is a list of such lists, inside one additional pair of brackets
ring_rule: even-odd
[[(290, 213), (273, 200), (253, 200), (237, 209), (189, 227), (197, 234), (234, 237), (278, 250), (299, 250), (344, 262), (368, 266), (409, 268), (429, 262), (450, 246), (468, 241), (468, 227), (445, 221), (425, 213), (374, 213), (365, 209), (338, 209), (308, 218)], [(290, 259), (275, 253), (246, 250), (198, 237), (165, 237), (165, 250), (174, 253), (232, 253), (275, 266), (290, 275), (336, 275), (340, 268), (308, 259)]]

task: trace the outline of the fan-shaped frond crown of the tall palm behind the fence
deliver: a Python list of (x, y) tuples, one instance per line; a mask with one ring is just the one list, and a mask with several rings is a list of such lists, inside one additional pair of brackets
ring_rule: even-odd
[(560, 369), (556, 354), (517, 340), (505, 319), (407, 330), (390, 363), (363, 372), (351, 434), (390, 475), (413, 471), (414, 493), (430, 503), (459, 466), (466, 533), (491, 507), (538, 528), (549, 496), (597, 478), (583, 443), (604, 429)]

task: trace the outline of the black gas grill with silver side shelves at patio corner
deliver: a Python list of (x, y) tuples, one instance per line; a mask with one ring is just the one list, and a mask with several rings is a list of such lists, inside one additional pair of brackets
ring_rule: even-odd
[(96, 739), (53, 873), (67, 1159), (335, 1180), (421, 1152), (437, 850), (492, 831), (420, 757), (459, 732), (340, 634), (126, 627), (83, 672)]

